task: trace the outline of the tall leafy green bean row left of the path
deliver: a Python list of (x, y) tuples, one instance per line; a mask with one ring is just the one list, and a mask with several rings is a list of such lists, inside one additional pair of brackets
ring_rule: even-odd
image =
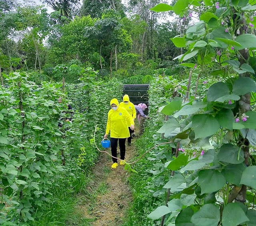
[(95, 82), (94, 76), (85, 69), (81, 83), (66, 90), (58, 83), (34, 85), (24, 73), (6, 76), (9, 86), (0, 88), (1, 225), (67, 223), (64, 211), (55, 209), (58, 197), (86, 189), (98, 157), (90, 143), (94, 128), (99, 124), (99, 142), (110, 99), (122, 94), (118, 81)]

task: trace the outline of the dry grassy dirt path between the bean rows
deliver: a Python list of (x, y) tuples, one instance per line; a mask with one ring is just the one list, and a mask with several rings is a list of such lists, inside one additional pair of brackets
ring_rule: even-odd
[[(111, 153), (110, 149), (108, 151)], [(133, 156), (134, 146), (126, 143), (126, 161)], [(81, 197), (84, 200), (78, 205), (83, 216), (94, 219), (93, 226), (121, 226), (132, 202), (132, 191), (127, 183), (129, 173), (124, 170), (124, 165), (119, 165), (119, 160), (116, 169), (111, 169), (111, 165), (111, 157), (101, 153), (100, 161), (93, 169), (94, 178), (88, 188), (90, 194)]]

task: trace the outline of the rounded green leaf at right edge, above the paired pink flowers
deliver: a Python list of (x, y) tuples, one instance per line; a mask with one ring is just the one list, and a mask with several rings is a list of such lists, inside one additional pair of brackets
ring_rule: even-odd
[(254, 81), (249, 77), (239, 77), (233, 85), (233, 92), (238, 96), (242, 96), (248, 92), (256, 90)]

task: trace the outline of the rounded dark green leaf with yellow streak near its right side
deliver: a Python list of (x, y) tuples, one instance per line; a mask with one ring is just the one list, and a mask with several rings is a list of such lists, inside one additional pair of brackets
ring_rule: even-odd
[(227, 143), (220, 147), (218, 160), (231, 164), (240, 164), (244, 162), (244, 152), (238, 146)]

